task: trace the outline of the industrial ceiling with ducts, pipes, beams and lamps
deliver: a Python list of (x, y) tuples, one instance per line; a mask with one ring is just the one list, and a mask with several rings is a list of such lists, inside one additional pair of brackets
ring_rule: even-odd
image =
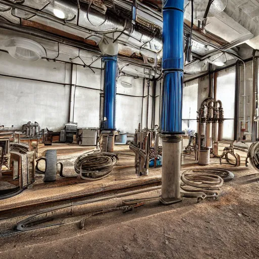
[[(1, 39), (10, 37), (6, 29), (16, 31), (17, 36), (51, 39), (59, 46), (53, 42), (52, 47), (46, 46), (49, 51), (44, 58), (58, 55), (61, 59), (65, 58), (65, 45), (81, 48), (82, 57), (87, 55), (83, 51), (89, 51), (98, 58), (98, 45), (106, 38), (118, 42), (124, 69), (132, 69), (136, 75), (137, 67), (149, 68), (150, 75), (157, 78), (162, 58), (162, 2), (0, 0), (0, 28), (7, 35)], [(259, 48), (258, 19), (258, 0), (185, 0), (185, 53), (191, 52), (185, 74), (206, 72), (207, 63), (217, 67), (251, 57), (252, 50)], [(83, 65), (99, 66), (98, 59), (82, 61), (81, 56), (74, 53)]]

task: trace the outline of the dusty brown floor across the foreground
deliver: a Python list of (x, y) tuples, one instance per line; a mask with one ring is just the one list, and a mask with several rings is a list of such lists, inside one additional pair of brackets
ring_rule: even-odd
[(258, 175), (231, 170), (219, 200), (153, 201), (87, 219), (83, 229), (71, 221), (3, 237), (0, 258), (259, 258)]

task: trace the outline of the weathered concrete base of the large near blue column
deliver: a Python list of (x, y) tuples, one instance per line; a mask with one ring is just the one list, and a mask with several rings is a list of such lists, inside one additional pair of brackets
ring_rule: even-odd
[(162, 186), (160, 202), (170, 205), (182, 201), (180, 192), (181, 135), (161, 135)]

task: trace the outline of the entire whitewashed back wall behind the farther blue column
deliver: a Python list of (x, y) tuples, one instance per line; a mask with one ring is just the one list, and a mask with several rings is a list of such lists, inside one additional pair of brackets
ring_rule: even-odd
[[(70, 104), (70, 64), (46, 60), (26, 62), (14, 59), (4, 52), (0, 52), (0, 58), (2, 61), (0, 74), (60, 83), (0, 76), (0, 125), (14, 125), (20, 128), (28, 121), (37, 121), (42, 128), (48, 127), (49, 130), (59, 131), (65, 123), (73, 120), (78, 123), (78, 127), (99, 127), (103, 71), (94, 69), (94, 73), (87, 67), (73, 65), (72, 84), (77, 86), (71, 88)], [(130, 82), (131, 87), (127, 87), (125, 82)], [(145, 94), (147, 95), (147, 85)], [(150, 95), (152, 95), (151, 88)], [(142, 96), (143, 78), (118, 78), (116, 97), (118, 130), (135, 133), (135, 129), (141, 123)], [(147, 98), (143, 104), (143, 121), (146, 121)], [(152, 122), (152, 102), (152, 97), (149, 97), (149, 127)], [(69, 105), (71, 105), (70, 115)]]

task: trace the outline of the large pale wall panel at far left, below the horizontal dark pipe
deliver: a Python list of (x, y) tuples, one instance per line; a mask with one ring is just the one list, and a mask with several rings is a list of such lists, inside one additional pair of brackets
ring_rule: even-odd
[(21, 127), (37, 121), (58, 131), (68, 121), (68, 86), (0, 76), (0, 124)]

